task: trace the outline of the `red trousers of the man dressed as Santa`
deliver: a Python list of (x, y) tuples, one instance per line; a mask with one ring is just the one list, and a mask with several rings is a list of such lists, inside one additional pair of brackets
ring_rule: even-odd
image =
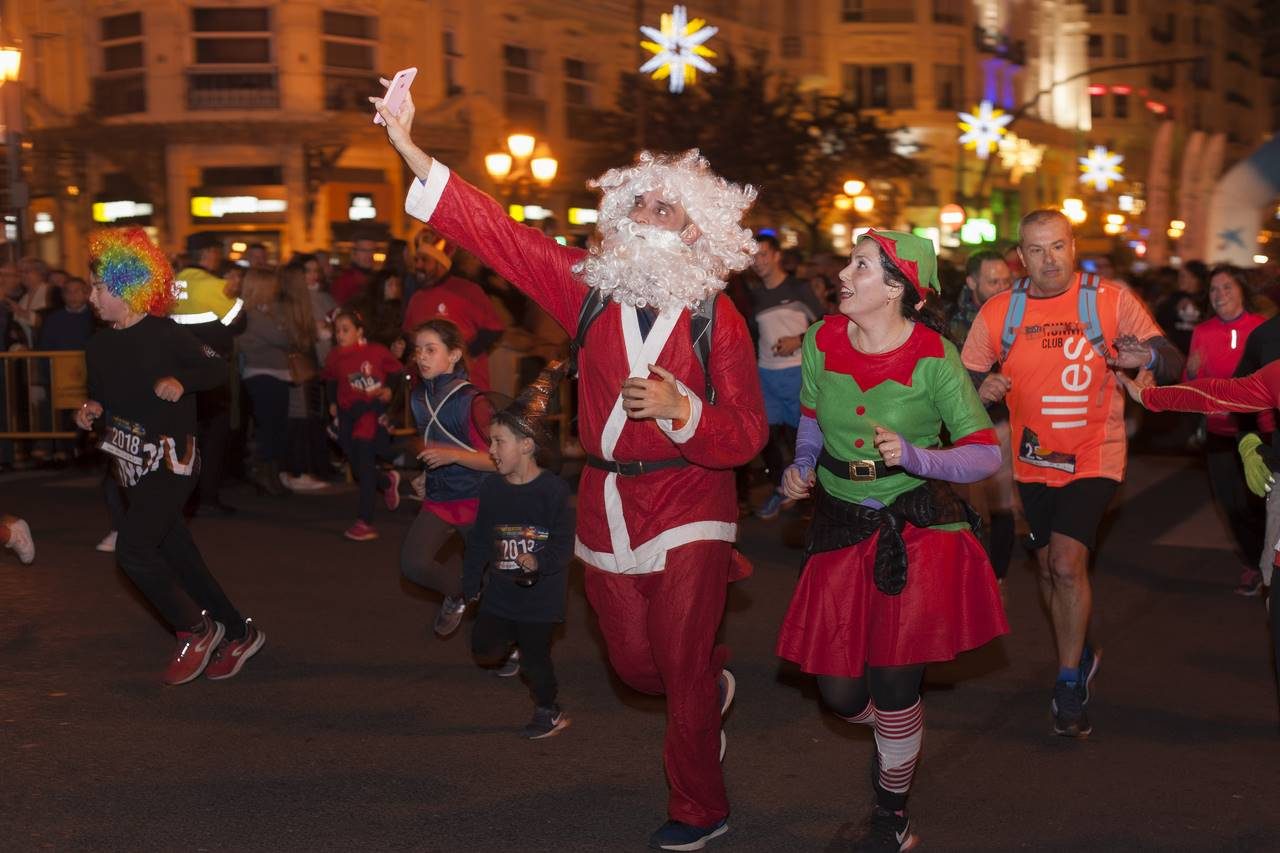
[(667, 567), (620, 575), (588, 566), (586, 598), (600, 620), (609, 662), (641, 693), (667, 697), (662, 748), (667, 815), (710, 826), (728, 815), (719, 763), (718, 680), (728, 647), (716, 644), (724, 615), (730, 542), (692, 542), (667, 552)]

